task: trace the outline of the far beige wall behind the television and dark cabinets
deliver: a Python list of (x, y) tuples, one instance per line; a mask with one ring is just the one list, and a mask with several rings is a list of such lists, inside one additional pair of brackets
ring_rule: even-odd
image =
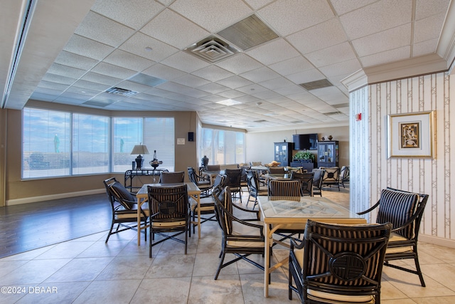
[[(339, 141), (339, 165), (349, 165), (349, 127), (321, 127), (317, 129), (298, 129), (274, 132), (248, 132), (247, 142), (247, 163), (262, 162), (268, 164), (274, 160), (274, 142), (292, 142), (294, 134), (318, 133), (319, 140), (321, 137), (333, 136), (333, 140)], [(297, 151), (294, 150), (293, 154)], [(317, 151), (312, 151), (316, 155)]]

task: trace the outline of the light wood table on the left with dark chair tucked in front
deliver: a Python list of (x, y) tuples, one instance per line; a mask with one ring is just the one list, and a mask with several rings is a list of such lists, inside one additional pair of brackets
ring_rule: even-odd
[(156, 186), (156, 187), (175, 187), (175, 186), (180, 186), (182, 184), (186, 184), (187, 191), (188, 191), (188, 196), (190, 199), (194, 199), (197, 204), (197, 210), (198, 210), (198, 221), (197, 222), (191, 222), (191, 224), (195, 224), (198, 226), (198, 237), (200, 239), (200, 189), (196, 184), (193, 182), (183, 182), (183, 183), (178, 183), (178, 184), (144, 184), (142, 185), (141, 189), (136, 194), (137, 198), (137, 246), (141, 245), (141, 230), (146, 229), (149, 227), (149, 225), (146, 226), (141, 226), (141, 208), (140, 206), (144, 203), (146, 203), (149, 200), (149, 194), (147, 187), (148, 186)]

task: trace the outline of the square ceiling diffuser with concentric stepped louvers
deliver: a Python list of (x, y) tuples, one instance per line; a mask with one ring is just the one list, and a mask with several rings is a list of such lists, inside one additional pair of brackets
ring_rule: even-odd
[(213, 36), (199, 41), (193, 46), (186, 48), (185, 51), (209, 63), (218, 62), (237, 53), (237, 50), (229, 46), (228, 43)]

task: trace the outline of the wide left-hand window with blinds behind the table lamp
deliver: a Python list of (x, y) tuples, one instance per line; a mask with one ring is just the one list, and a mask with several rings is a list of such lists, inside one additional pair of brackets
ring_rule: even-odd
[[(174, 170), (173, 117), (114, 117), (24, 108), (22, 178), (63, 177), (132, 169), (134, 145), (143, 143)], [(111, 126), (112, 120), (112, 128)], [(112, 131), (111, 131), (112, 130)]]

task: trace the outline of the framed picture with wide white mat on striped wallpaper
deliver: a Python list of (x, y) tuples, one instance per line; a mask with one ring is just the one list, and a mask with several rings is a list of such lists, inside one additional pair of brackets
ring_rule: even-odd
[(387, 116), (388, 157), (433, 158), (433, 111)]

